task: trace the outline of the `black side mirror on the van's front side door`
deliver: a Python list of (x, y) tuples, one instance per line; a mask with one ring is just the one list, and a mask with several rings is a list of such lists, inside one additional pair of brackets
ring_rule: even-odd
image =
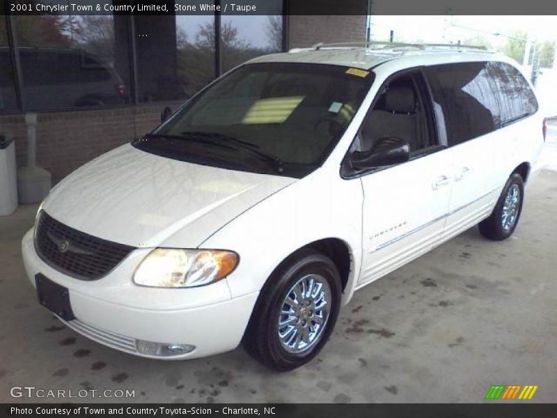
[(379, 138), (370, 151), (354, 151), (350, 155), (352, 167), (356, 170), (376, 169), (407, 162), (410, 159), (410, 146), (405, 139)]

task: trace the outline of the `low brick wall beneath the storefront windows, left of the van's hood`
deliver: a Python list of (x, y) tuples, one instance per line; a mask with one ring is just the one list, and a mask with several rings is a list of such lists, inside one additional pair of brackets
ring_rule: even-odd
[[(120, 109), (42, 112), (37, 123), (37, 164), (56, 184), (93, 158), (150, 132), (160, 112), (179, 103), (157, 103)], [(27, 164), (24, 115), (0, 115), (0, 132), (15, 137), (17, 166)]]

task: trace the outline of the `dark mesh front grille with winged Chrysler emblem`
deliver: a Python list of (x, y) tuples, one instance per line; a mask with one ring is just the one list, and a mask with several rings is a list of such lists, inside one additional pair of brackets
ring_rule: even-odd
[(37, 219), (35, 248), (42, 261), (80, 280), (100, 279), (134, 249), (72, 229), (44, 210)]

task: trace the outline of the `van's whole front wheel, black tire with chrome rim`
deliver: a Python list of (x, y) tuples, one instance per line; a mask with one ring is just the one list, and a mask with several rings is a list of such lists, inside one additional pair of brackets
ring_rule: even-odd
[[(313, 288), (313, 295), (309, 288)], [(277, 371), (306, 364), (333, 331), (341, 293), (340, 274), (329, 257), (311, 249), (298, 251), (263, 286), (244, 334), (244, 347), (252, 357)], [(308, 306), (298, 303), (302, 301)]]

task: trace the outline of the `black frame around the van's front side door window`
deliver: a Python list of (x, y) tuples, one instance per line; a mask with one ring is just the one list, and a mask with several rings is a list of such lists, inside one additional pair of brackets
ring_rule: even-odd
[[(380, 65), (380, 64), (379, 64)], [(424, 111), (428, 111), (429, 113), (429, 117), (428, 119), (428, 129), (430, 130), (430, 135), (431, 135), (431, 139), (432, 139), (432, 144), (431, 146), (428, 146), (426, 148), (422, 148), (421, 150), (416, 150), (414, 152), (412, 152), (410, 154), (410, 158), (407, 162), (411, 162), (414, 160), (417, 160), (418, 158), (421, 157), (426, 157), (427, 155), (431, 155), (433, 153), (437, 153), (441, 150), (445, 150), (446, 148), (448, 148), (448, 146), (446, 144), (440, 144), (439, 143), (439, 139), (440, 139), (440, 135), (439, 135), (439, 129), (441, 128), (445, 128), (444, 126), (441, 126), (441, 121), (438, 120), (437, 116), (435, 115), (435, 112), (433, 111), (433, 95), (432, 95), (432, 88), (430, 86), (430, 81), (429, 79), (427, 79), (424, 68), (426, 68), (427, 65), (417, 65), (415, 67), (409, 67), (409, 68), (405, 68), (404, 70), (399, 70), (396, 72), (393, 72), (391, 75), (389, 75), (389, 77), (387, 77), (384, 82), (382, 82), (381, 86), (379, 86), (379, 88), (377, 89), (377, 93), (375, 93), (375, 97), (373, 98), (370, 107), (368, 108), (368, 111), (366, 111), (366, 116), (363, 117), (358, 130), (356, 132), (356, 135), (354, 135), (354, 139), (352, 139), (352, 142), (350, 143), (350, 146), (348, 147), (345, 156), (343, 157), (342, 162), (340, 163), (340, 177), (343, 178), (344, 180), (351, 180), (353, 178), (361, 178), (363, 176), (368, 176), (370, 174), (373, 173), (377, 173), (378, 171), (383, 171), (386, 169), (391, 169), (393, 167), (398, 167), (401, 164), (393, 164), (390, 166), (385, 166), (385, 167), (377, 167), (377, 168), (373, 168), (373, 169), (368, 169), (368, 170), (355, 170), (352, 167), (350, 167), (350, 155), (352, 155), (352, 146), (354, 146), (354, 142), (356, 141), (356, 138), (358, 137), (358, 135), (360, 134), (361, 130), (363, 129), (363, 126), (366, 125), (366, 121), (368, 121), (368, 118), (370, 117), (370, 114), (372, 112), (372, 109), (375, 107), (375, 104), (377, 104), (377, 101), (379, 100), (379, 98), (382, 95), (382, 92), (384, 91), (384, 89), (386, 88), (386, 86), (389, 85), (390, 82), (393, 81), (393, 79), (397, 79), (398, 77), (402, 76), (402, 75), (406, 75), (409, 73), (417, 73), (423, 81), (423, 86), (422, 88), (420, 88), (420, 86), (416, 86), (418, 87), (418, 94), (421, 95), (421, 101), (425, 104), (425, 106), (427, 107), (427, 109), (424, 109)], [(373, 68), (370, 68), (370, 71), (373, 70)], [(407, 163), (406, 162), (406, 163)], [(402, 164), (406, 164), (406, 163), (402, 163)]]

